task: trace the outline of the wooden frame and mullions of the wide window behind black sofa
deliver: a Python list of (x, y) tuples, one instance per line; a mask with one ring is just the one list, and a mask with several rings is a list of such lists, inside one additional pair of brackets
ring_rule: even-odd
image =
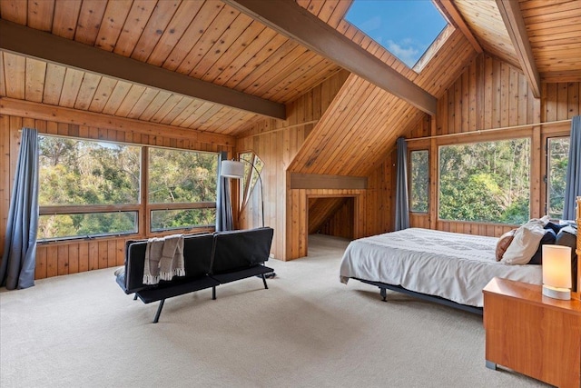
[[(136, 232), (127, 233), (112, 233), (112, 234), (87, 234), (79, 236), (63, 236), (63, 237), (50, 237), (50, 238), (39, 238), (39, 243), (51, 243), (60, 241), (70, 241), (70, 240), (86, 240), (95, 238), (112, 238), (120, 236), (130, 236), (130, 235), (140, 235), (140, 236), (151, 236), (160, 235), (167, 233), (175, 233), (176, 231), (183, 232), (197, 232), (204, 230), (215, 229), (215, 224), (212, 225), (195, 225), (188, 227), (177, 227), (168, 228), (159, 231), (152, 230), (152, 212), (156, 210), (190, 210), (190, 209), (215, 209), (215, 201), (205, 201), (199, 203), (166, 203), (166, 204), (150, 204), (148, 201), (148, 176), (149, 176), (149, 150), (151, 148), (165, 148), (172, 151), (185, 151), (192, 153), (204, 153), (204, 154), (217, 154), (209, 151), (198, 151), (190, 150), (186, 148), (172, 148), (163, 147), (157, 145), (148, 144), (134, 144), (126, 142), (116, 142), (110, 140), (92, 139), (92, 138), (82, 138), (74, 136), (64, 136), (57, 134), (38, 134), (44, 137), (56, 137), (64, 139), (72, 139), (77, 141), (94, 142), (94, 143), (110, 143), (110, 144), (122, 144), (136, 146), (141, 149), (141, 165), (140, 165), (140, 187), (138, 195), (137, 204), (66, 204), (66, 205), (39, 205), (39, 215), (56, 215), (56, 214), (103, 214), (103, 213), (116, 213), (116, 212), (134, 212), (136, 213)], [(218, 159), (220, 163), (220, 158)], [(216, 168), (218, 170), (218, 168)], [(215, 172), (216, 176), (218, 171)], [(218, 179), (216, 181), (218, 184)], [(217, 191), (217, 190), (216, 190)]]

